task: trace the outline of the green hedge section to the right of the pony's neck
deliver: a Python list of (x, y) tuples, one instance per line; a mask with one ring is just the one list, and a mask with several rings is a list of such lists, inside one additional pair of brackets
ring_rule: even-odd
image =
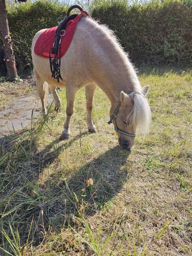
[(192, 12), (180, 1), (128, 7), (126, 1), (100, 1), (92, 17), (115, 31), (137, 63), (191, 63)]

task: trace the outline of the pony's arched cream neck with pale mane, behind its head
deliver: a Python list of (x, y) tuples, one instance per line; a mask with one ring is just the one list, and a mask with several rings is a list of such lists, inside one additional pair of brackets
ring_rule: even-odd
[(126, 53), (116, 41), (110, 30), (97, 27), (94, 54), (95, 79), (111, 102), (120, 100), (120, 92), (136, 93), (141, 90), (137, 74)]

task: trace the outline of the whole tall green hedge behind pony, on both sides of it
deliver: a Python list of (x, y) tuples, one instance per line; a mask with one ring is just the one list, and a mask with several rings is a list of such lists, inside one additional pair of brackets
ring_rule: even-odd
[[(48, 0), (8, 9), (15, 58), (21, 67), (31, 63), (31, 42), (42, 28), (56, 26), (68, 6)], [(107, 24), (134, 63), (192, 63), (192, 11), (179, 0), (127, 6), (125, 0), (94, 0), (92, 17)]]

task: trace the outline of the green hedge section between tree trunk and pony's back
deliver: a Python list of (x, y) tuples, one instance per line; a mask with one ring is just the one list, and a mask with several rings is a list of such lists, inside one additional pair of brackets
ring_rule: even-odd
[(66, 11), (67, 7), (47, 0), (18, 4), (8, 10), (13, 50), (20, 68), (31, 63), (31, 43), (35, 33), (43, 28), (57, 26), (66, 16)]

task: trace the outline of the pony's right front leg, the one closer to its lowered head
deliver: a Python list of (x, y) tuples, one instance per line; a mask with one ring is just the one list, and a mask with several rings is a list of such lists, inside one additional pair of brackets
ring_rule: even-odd
[(94, 126), (92, 122), (92, 108), (93, 108), (93, 97), (95, 90), (97, 88), (97, 85), (95, 83), (91, 83), (85, 87), (85, 97), (86, 97), (86, 107), (87, 107), (87, 126), (88, 130), (91, 133), (96, 133), (96, 127)]

